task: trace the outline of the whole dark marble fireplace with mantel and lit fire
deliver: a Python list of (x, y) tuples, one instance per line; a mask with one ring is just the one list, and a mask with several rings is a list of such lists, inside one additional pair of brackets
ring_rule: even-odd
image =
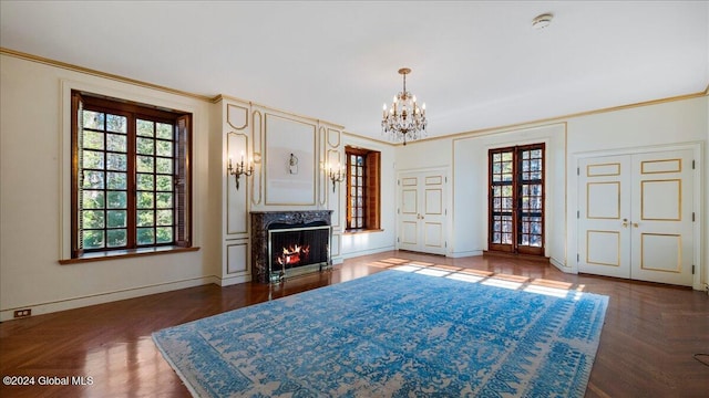
[(331, 266), (331, 210), (251, 212), (254, 280), (278, 283)]

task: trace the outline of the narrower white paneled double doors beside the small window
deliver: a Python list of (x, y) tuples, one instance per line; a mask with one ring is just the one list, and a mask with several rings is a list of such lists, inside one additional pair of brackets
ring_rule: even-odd
[(411, 171), (399, 176), (397, 248), (445, 254), (445, 172)]

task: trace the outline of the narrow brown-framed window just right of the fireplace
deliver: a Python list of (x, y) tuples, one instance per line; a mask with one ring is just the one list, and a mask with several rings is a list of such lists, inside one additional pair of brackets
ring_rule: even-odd
[(379, 229), (380, 153), (346, 147), (347, 230)]

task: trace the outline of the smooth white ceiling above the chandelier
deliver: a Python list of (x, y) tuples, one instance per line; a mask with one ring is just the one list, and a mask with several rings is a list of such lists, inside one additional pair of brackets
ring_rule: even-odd
[[(554, 13), (544, 30), (532, 20)], [(429, 136), (702, 92), (708, 1), (0, 1), (0, 45), (381, 138), (407, 87)]]

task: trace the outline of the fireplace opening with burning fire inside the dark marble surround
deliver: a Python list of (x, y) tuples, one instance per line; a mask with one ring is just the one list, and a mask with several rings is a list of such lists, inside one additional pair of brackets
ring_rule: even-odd
[(329, 266), (330, 226), (323, 222), (269, 226), (268, 273), (271, 283)]

